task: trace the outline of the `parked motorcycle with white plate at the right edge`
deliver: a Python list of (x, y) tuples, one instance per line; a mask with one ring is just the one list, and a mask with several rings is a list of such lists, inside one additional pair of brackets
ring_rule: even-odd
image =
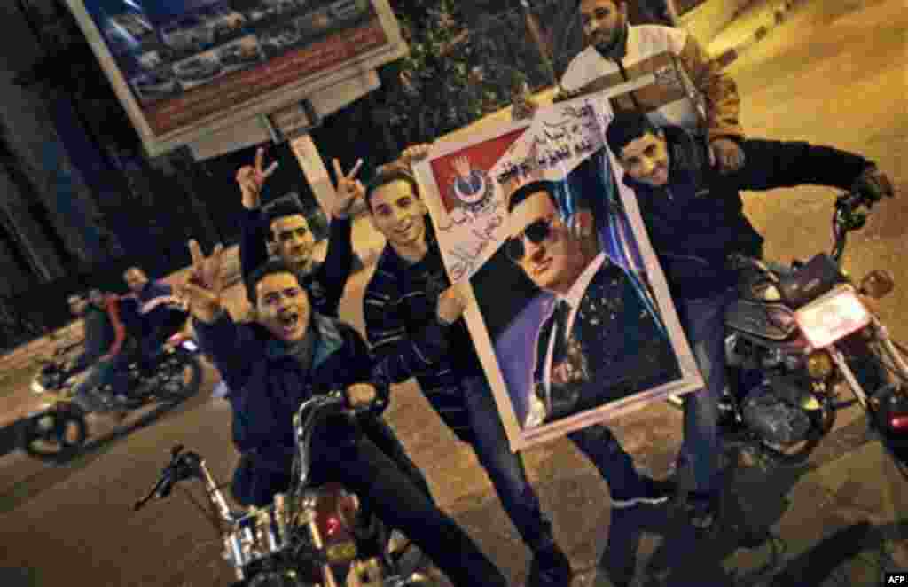
[[(872, 206), (858, 194), (836, 199), (830, 254), (791, 266), (734, 259), (741, 278), (725, 313), (726, 441), (771, 462), (804, 463), (836, 411), (856, 402), (908, 479), (908, 349), (873, 311), (894, 278), (873, 270), (855, 284), (841, 266), (848, 234), (864, 227)], [(854, 400), (842, 401), (848, 392)], [(682, 404), (677, 396), (669, 401)]]

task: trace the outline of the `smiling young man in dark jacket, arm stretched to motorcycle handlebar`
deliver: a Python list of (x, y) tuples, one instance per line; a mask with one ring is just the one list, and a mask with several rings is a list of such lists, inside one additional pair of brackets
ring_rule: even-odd
[(618, 114), (606, 136), (625, 170), (625, 184), (637, 194), (647, 234), (706, 379), (706, 389), (686, 396), (682, 450), (694, 472), (691, 522), (706, 530), (716, 519), (724, 315), (736, 295), (737, 272), (729, 260), (763, 255), (764, 239), (745, 216), (738, 191), (819, 184), (852, 190), (873, 203), (892, 195), (892, 185), (860, 155), (803, 142), (743, 140), (744, 166), (719, 171), (701, 139), (678, 127), (657, 129), (644, 114)]

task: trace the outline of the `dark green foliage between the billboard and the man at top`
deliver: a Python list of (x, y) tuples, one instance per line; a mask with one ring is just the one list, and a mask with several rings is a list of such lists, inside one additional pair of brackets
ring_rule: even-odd
[[(431, 141), (553, 83), (525, 15), (456, 0), (394, 0), (409, 55), (382, 68), (382, 124), (399, 147)], [(373, 104), (374, 105), (374, 104)]]

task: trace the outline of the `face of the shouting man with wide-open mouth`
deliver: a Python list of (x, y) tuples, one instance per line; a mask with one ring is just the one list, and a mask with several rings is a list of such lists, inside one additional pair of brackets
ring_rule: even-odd
[(255, 285), (255, 293), (257, 320), (275, 338), (295, 342), (306, 335), (311, 305), (295, 275), (265, 275)]

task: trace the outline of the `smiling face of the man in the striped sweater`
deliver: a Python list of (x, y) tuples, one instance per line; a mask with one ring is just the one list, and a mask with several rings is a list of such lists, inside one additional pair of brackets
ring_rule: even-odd
[(372, 224), (390, 244), (421, 244), (426, 238), (426, 206), (404, 180), (381, 185), (371, 194)]

